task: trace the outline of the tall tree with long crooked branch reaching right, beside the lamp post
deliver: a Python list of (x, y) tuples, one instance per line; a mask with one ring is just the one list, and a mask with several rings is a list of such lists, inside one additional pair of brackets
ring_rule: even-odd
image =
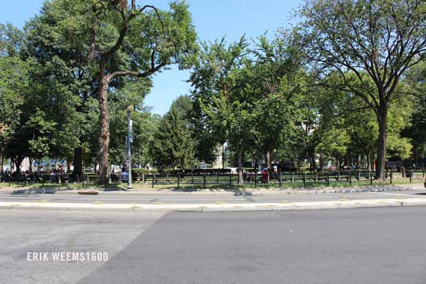
[[(100, 137), (98, 182), (104, 184), (109, 149), (109, 84), (120, 77), (149, 77), (167, 65), (188, 67), (188, 58), (197, 50), (196, 34), (188, 6), (170, 3), (170, 11), (136, 0), (103, 0), (93, 3), (89, 17), (91, 41), (89, 61), (98, 68)], [(108, 36), (106, 36), (108, 34)], [(108, 41), (105, 41), (108, 39)]]

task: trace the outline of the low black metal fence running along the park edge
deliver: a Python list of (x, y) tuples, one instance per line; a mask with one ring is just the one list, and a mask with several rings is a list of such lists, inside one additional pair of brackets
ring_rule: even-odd
[[(300, 183), (306, 186), (306, 182), (323, 183), (330, 186), (330, 182), (342, 182), (352, 185), (352, 182), (363, 181), (373, 184), (374, 173), (363, 170), (351, 171), (325, 171), (317, 173), (244, 173), (243, 175), (245, 184), (254, 186), (275, 186), (278, 188), (284, 187), (288, 184)], [(422, 171), (406, 171), (405, 174), (395, 171), (387, 171), (385, 178), (390, 184), (394, 183), (396, 179), (405, 179), (410, 181), (414, 179), (425, 179), (425, 170)], [(56, 184), (67, 186), (69, 184), (80, 183), (82, 186), (95, 184), (98, 181), (96, 173), (87, 173), (82, 177), (76, 177), (71, 174), (30, 174), (30, 175), (2, 175), (1, 182), (11, 184), (38, 184), (44, 187), (45, 184)], [(207, 186), (215, 185), (221, 187), (232, 188), (239, 184), (238, 175), (222, 172), (210, 173), (177, 173), (177, 174), (148, 174), (148, 175), (132, 175), (133, 183), (145, 184), (155, 188), (155, 186), (176, 186), (177, 188), (183, 186), (199, 186), (206, 188)], [(107, 178), (109, 185), (122, 183), (120, 175), (109, 175)]]

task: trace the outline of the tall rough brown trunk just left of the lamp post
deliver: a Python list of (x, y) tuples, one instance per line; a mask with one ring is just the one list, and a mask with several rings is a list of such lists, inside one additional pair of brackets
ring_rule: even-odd
[(100, 109), (100, 136), (99, 136), (99, 179), (98, 184), (105, 184), (108, 172), (108, 148), (109, 148), (109, 110), (108, 110), (108, 77), (103, 75), (101, 69), (99, 87), (99, 109)]

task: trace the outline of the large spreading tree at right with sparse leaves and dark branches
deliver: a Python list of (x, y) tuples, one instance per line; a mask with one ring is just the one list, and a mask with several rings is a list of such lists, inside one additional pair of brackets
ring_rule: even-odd
[[(300, 9), (310, 64), (320, 74), (337, 71), (343, 83), (330, 87), (361, 97), (377, 117), (377, 179), (384, 179), (386, 124), (395, 89), (405, 71), (425, 56), (425, 12), (420, 0), (313, 0)], [(374, 91), (366, 87), (367, 78)]]

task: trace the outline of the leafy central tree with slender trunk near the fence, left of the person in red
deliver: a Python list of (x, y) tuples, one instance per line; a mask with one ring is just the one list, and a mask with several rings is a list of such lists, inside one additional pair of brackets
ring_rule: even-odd
[(253, 64), (247, 58), (247, 46), (244, 36), (229, 46), (225, 39), (204, 43), (190, 78), (192, 97), (206, 124), (218, 142), (227, 141), (236, 149), (240, 183), (244, 182), (245, 150), (256, 137), (254, 102), (261, 96), (254, 82)]

